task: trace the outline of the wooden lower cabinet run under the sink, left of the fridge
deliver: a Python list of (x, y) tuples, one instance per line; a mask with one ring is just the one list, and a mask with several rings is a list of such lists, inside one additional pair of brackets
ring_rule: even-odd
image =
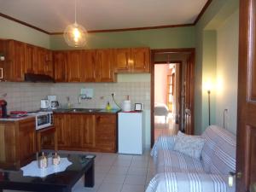
[(116, 114), (55, 113), (58, 148), (116, 152)]

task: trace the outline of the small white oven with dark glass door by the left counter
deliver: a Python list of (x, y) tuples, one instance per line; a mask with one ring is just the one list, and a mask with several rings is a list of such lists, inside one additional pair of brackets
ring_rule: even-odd
[(52, 112), (38, 112), (36, 113), (36, 130), (43, 129), (53, 125)]

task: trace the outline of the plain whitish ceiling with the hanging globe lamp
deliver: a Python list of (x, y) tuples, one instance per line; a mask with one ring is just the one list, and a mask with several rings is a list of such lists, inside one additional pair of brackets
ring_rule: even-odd
[[(74, 0), (0, 0), (0, 13), (47, 32), (74, 22)], [(88, 31), (191, 24), (207, 0), (77, 0)]]

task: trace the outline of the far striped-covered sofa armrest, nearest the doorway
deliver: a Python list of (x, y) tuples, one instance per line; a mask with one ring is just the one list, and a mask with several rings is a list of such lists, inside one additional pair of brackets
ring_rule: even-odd
[(154, 146), (151, 150), (151, 156), (154, 157), (154, 159), (157, 157), (159, 150), (172, 150), (175, 143), (175, 137), (176, 136), (161, 136), (158, 137), (156, 142), (154, 143)]

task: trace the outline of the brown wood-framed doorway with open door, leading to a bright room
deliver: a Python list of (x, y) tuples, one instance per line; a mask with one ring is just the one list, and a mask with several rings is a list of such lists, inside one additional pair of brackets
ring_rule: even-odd
[(151, 146), (161, 135), (194, 133), (195, 49), (151, 50)]

